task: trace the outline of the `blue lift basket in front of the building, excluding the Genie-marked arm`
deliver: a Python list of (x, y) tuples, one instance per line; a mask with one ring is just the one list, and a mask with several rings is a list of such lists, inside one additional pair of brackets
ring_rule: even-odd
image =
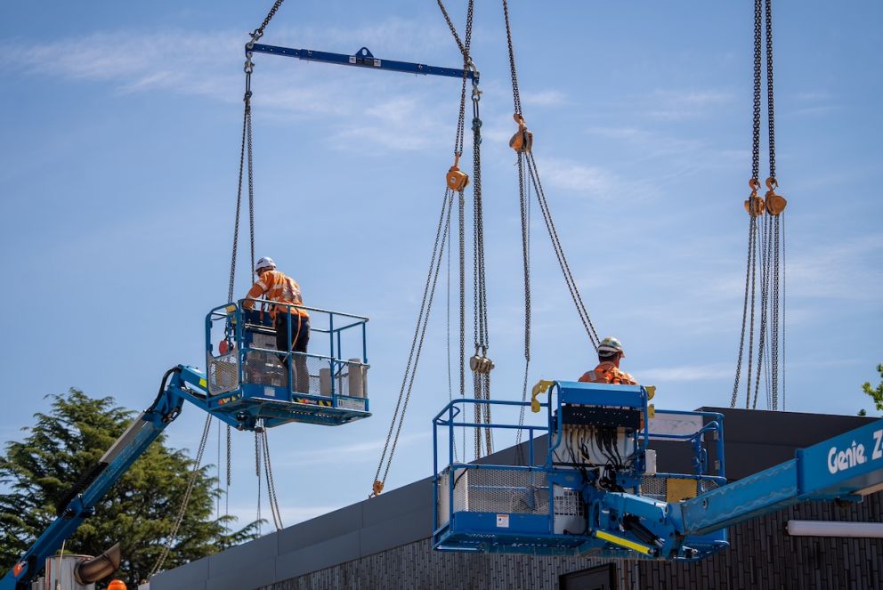
[[(655, 410), (684, 419), (676, 432), (654, 433), (644, 387), (548, 385), (550, 402), (537, 402), (536, 390), (532, 402), (534, 411), (546, 408), (545, 426), (490, 424), (491, 430), (526, 432), (518, 449), (522, 460), (515, 461), (523, 465), (484, 463), (492, 457), (458, 463), (454, 434), (487, 427), (466, 419), (472, 412), (462, 410), (469, 405), (531, 402), (454, 400), (435, 416), (436, 549), (695, 560), (727, 546), (725, 530), (675, 538), (664, 518), (672, 498), (696, 497), (726, 483), (723, 416)], [(657, 473), (651, 436), (689, 444), (693, 473)], [(709, 443), (717, 446), (712, 469)], [(536, 457), (538, 445), (547, 447), (545, 457)]]

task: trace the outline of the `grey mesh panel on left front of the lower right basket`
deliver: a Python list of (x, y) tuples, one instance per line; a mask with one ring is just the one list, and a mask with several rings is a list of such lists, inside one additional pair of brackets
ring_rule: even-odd
[(547, 514), (546, 473), (511, 469), (457, 470), (454, 512)]

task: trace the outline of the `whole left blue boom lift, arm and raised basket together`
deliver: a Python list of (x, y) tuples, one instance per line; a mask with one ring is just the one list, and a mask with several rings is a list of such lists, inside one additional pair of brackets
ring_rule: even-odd
[[(166, 371), (150, 408), (134, 419), (98, 464), (61, 500), (58, 516), (6, 572), (0, 590), (29, 590), (30, 582), (44, 569), (46, 558), (53, 556), (80, 523), (95, 513), (114, 483), (181, 414), (184, 401), (244, 431), (292, 422), (346, 424), (370, 416), (365, 386), (368, 318), (304, 308), (312, 317), (313, 342), (320, 348), (322, 338), (316, 335), (327, 337), (328, 354), (286, 353), (274, 349), (270, 314), (243, 309), (242, 301), (226, 303), (207, 315), (207, 373), (184, 365)], [(223, 353), (213, 346), (219, 330), (223, 333)], [(288, 339), (290, 343), (290, 335)], [(359, 357), (344, 356), (344, 350), (352, 353), (347, 343), (355, 343)], [(288, 387), (288, 383), (296, 383), (290, 376), (298, 356), (304, 357), (310, 370), (310, 391)]]

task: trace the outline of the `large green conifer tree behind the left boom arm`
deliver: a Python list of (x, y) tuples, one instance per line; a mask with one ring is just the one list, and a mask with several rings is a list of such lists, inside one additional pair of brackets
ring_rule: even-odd
[[(51, 411), (35, 415), (24, 440), (6, 444), (0, 457), (0, 567), (18, 560), (56, 515), (55, 505), (80, 476), (99, 462), (126, 429), (133, 412), (111, 397), (92, 399), (75, 389), (47, 396)], [(173, 528), (194, 462), (169, 449), (161, 435), (110, 489), (96, 514), (70, 537), (66, 551), (97, 555), (117, 541), (123, 562), (117, 578), (137, 587), (157, 562)], [(230, 530), (231, 516), (213, 517), (220, 491), (208, 474), (197, 472), (181, 529), (166, 558), (171, 569), (255, 538), (257, 522)], [(0, 576), (4, 575), (0, 573)]]

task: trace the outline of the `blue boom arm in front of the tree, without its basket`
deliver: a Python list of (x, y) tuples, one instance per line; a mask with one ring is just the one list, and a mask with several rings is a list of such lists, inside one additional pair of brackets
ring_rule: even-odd
[[(89, 473), (74, 485), (59, 504), (58, 516), (20, 560), (0, 580), (0, 590), (28, 590), (30, 582), (44, 568), (45, 559), (95, 513), (95, 506), (123, 473), (150, 447), (181, 413), (184, 400), (210, 411), (207, 404), (206, 376), (198, 369), (179, 365), (163, 377), (157, 399), (136, 417)], [(213, 412), (214, 413), (214, 412)], [(241, 428), (232, 416), (215, 414), (228, 424)]]

